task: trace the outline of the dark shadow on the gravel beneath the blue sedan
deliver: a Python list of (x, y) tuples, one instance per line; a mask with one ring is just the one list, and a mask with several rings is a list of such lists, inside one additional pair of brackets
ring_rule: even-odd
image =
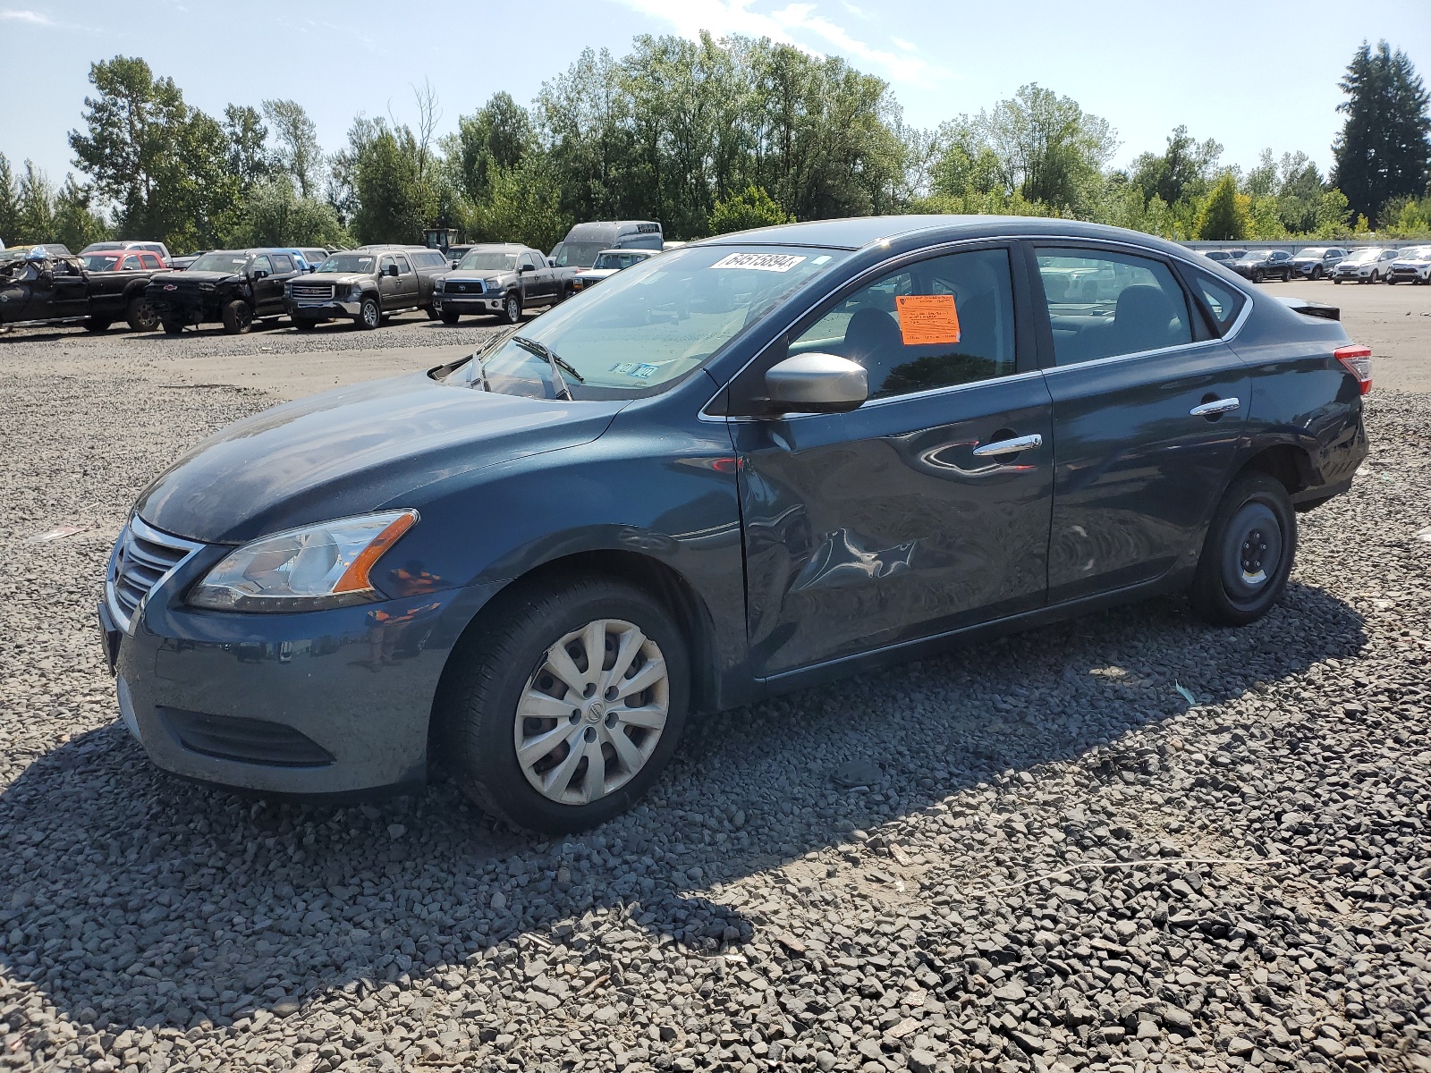
[[(558, 840), (494, 825), (441, 778), (363, 805), (240, 798), (160, 773), (112, 724), (0, 794), (0, 964), (77, 1020), (189, 1027), (358, 981), (442, 984), (498, 943), (577, 941), (602, 906), (716, 953), (763, 923), (723, 896), (734, 880), (1118, 743), (1185, 711), (1176, 687), (1226, 701), (1365, 640), (1294, 584), (1244, 629), (1165, 598), (977, 642), (701, 720), (648, 801)], [(866, 785), (833, 780), (850, 760), (873, 764)]]

